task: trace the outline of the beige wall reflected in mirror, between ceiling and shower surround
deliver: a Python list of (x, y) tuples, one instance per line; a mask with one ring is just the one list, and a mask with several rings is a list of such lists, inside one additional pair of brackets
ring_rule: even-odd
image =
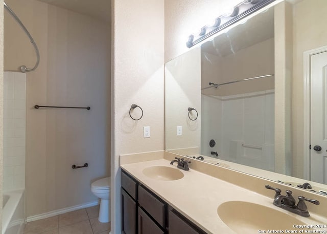
[[(265, 51), (265, 53), (262, 53)], [(209, 82), (225, 83), (255, 76), (274, 74), (274, 38), (264, 40), (236, 53), (220, 57), (201, 53), (201, 87)], [(229, 96), (274, 89), (274, 77), (225, 85), (202, 90), (202, 94)]]

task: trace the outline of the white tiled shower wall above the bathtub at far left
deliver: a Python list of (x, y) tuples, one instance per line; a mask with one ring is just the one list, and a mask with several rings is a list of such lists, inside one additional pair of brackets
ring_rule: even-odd
[(4, 191), (25, 188), (26, 74), (4, 73)]

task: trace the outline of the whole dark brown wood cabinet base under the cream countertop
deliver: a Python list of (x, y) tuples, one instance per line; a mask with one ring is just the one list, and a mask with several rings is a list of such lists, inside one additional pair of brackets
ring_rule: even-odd
[(121, 192), (122, 233), (205, 234), (124, 171), (122, 171)]

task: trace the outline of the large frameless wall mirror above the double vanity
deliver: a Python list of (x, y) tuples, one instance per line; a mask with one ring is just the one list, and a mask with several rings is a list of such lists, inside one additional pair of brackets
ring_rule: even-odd
[[(325, 10), (324, 0), (284, 1), (167, 62), (166, 150), (294, 186), (309, 181), (303, 53), (327, 46)], [(312, 190), (323, 194), (326, 180), (312, 180)]]

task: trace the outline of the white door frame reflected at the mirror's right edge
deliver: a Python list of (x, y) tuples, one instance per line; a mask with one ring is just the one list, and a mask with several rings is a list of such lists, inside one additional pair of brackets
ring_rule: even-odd
[(311, 180), (311, 56), (327, 52), (322, 46), (303, 52), (303, 177)]

